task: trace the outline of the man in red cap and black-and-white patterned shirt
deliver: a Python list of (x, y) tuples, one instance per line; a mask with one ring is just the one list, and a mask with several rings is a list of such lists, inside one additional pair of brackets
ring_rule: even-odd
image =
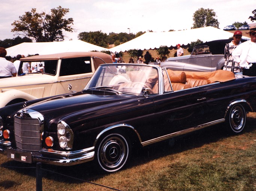
[(242, 75), (242, 69), (238, 63), (234, 62), (232, 57), (232, 52), (237, 48), (239, 44), (241, 44), (242, 32), (235, 31), (233, 35), (234, 40), (230, 43), (226, 44), (224, 48), (224, 58), (225, 64), (223, 70), (234, 72), (236, 75)]

